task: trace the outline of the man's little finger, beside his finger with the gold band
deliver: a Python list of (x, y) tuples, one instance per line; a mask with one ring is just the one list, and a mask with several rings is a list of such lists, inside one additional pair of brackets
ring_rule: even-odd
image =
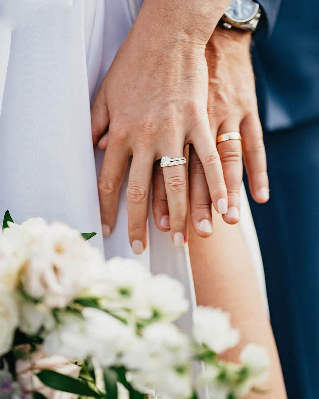
[(266, 152), (258, 117), (248, 115), (240, 124), (242, 150), (252, 198), (258, 203), (269, 199)]

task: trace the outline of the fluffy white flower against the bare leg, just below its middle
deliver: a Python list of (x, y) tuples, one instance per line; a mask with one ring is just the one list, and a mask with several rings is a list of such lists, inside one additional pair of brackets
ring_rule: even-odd
[(193, 325), (194, 338), (219, 354), (239, 342), (239, 332), (230, 324), (230, 314), (209, 306), (198, 306)]

